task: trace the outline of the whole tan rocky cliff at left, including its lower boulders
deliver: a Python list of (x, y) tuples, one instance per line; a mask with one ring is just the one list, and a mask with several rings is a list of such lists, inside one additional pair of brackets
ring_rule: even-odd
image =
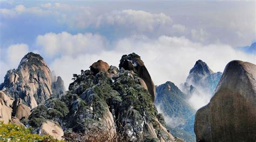
[(31, 109), (50, 97), (59, 97), (65, 88), (40, 55), (28, 53), (17, 69), (8, 70), (0, 90), (0, 120), (23, 125), (21, 122), (29, 118)]

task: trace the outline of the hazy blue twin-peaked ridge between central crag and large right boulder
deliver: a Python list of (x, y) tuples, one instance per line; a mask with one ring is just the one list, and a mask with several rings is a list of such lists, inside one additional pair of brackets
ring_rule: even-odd
[[(185, 141), (196, 141), (194, 134), (196, 109), (190, 104), (190, 99), (194, 96), (213, 94), (220, 77), (220, 72), (214, 73), (204, 61), (198, 60), (190, 70), (186, 82), (181, 84), (182, 91), (170, 81), (156, 88), (156, 105), (166, 119), (173, 120), (166, 122), (174, 136)], [(172, 125), (177, 119), (179, 123)]]

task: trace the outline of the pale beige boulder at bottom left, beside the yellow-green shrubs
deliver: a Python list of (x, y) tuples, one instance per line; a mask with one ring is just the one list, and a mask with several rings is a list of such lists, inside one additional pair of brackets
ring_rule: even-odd
[(62, 140), (62, 136), (64, 135), (63, 129), (59, 124), (50, 122), (46, 120), (45, 123), (42, 125), (42, 133), (43, 135), (50, 135), (53, 138), (58, 140)]

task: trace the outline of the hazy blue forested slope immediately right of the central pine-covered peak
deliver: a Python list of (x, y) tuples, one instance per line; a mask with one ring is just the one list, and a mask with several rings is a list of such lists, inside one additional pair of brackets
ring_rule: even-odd
[(156, 105), (164, 113), (166, 126), (172, 134), (186, 141), (195, 141), (193, 124), (196, 111), (186, 102), (189, 96), (170, 81), (158, 86), (156, 94)]

